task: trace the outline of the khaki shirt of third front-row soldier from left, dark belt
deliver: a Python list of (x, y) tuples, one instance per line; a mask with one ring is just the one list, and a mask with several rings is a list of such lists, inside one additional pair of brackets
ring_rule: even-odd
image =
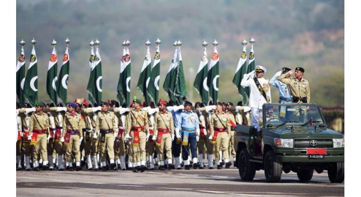
[(113, 130), (117, 132), (116, 116), (114, 112), (99, 112), (97, 117), (97, 123), (95, 125), (95, 133), (99, 133), (100, 130)]

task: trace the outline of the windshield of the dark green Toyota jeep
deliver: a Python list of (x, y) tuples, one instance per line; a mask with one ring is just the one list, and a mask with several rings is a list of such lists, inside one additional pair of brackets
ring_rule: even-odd
[(266, 124), (324, 124), (317, 106), (300, 105), (267, 105), (265, 112)]

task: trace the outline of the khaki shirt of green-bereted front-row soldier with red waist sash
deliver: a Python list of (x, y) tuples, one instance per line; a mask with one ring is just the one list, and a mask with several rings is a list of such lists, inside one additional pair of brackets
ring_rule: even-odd
[(149, 125), (148, 125), (148, 112), (144, 110), (137, 110), (133, 109), (130, 110), (128, 118), (126, 120), (126, 133), (129, 134), (129, 132), (132, 130), (132, 127), (140, 127), (145, 126), (145, 132), (149, 133)]

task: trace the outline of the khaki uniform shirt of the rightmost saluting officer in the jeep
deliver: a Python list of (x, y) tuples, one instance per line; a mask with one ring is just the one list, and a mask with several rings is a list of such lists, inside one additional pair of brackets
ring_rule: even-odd
[(288, 87), (290, 88), (290, 93), (293, 97), (298, 97), (298, 98), (306, 97), (307, 103), (310, 103), (311, 93), (310, 93), (310, 84), (308, 80), (302, 78), (301, 81), (299, 81), (296, 78), (286, 78), (288, 76), (289, 74), (285, 73), (281, 75), (278, 78), (278, 80), (288, 85)]

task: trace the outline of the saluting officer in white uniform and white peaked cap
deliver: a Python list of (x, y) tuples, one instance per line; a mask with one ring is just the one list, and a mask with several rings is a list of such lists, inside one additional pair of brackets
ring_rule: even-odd
[[(256, 72), (256, 77), (252, 78)], [(260, 131), (259, 118), (262, 117), (262, 105), (271, 102), (271, 90), (269, 81), (263, 78), (267, 72), (263, 66), (256, 66), (256, 69), (248, 74), (243, 75), (241, 86), (250, 87), (249, 106), (252, 113), (252, 126)]]

